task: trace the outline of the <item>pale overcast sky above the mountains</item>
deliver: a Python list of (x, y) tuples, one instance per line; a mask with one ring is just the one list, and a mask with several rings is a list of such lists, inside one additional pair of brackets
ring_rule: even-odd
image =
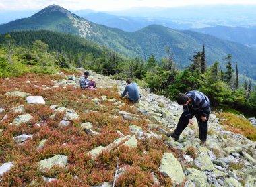
[(0, 0), (0, 11), (38, 10), (48, 5), (69, 10), (117, 11), (131, 7), (177, 7), (185, 5), (256, 5), (256, 0)]

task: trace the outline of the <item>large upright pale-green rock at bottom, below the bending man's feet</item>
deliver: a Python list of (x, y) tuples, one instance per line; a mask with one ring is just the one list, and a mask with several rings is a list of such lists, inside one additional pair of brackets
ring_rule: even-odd
[(181, 164), (172, 153), (164, 153), (158, 170), (162, 174), (169, 176), (174, 185), (182, 184), (183, 180), (185, 180)]

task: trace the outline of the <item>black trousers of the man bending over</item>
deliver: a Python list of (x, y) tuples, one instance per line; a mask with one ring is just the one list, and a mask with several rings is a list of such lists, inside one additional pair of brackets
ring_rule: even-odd
[[(198, 127), (199, 127), (199, 139), (201, 141), (206, 141), (207, 139), (207, 131), (208, 131), (208, 119), (209, 114), (207, 114), (206, 118), (207, 120), (202, 121), (201, 120), (201, 112), (200, 111), (194, 111), (193, 109), (189, 109), (189, 113), (191, 114), (191, 119), (195, 116), (198, 121)], [(174, 134), (180, 135), (183, 130), (189, 125), (189, 119), (185, 117), (185, 114), (182, 113), (178, 125), (176, 129), (174, 130)]]

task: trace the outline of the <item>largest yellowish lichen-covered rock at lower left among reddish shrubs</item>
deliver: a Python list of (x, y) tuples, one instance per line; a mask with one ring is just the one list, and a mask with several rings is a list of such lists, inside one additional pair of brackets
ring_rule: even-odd
[(65, 166), (67, 166), (67, 156), (55, 155), (51, 158), (40, 160), (40, 162), (38, 162), (38, 168), (41, 170), (43, 169), (50, 170), (55, 164), (64, 168)]

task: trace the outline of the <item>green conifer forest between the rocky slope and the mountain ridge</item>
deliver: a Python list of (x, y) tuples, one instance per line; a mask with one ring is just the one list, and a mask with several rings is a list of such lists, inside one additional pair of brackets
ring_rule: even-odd
[(223, 57), (225, 69), (220, 68), (220, 62), (207, 66), (204, 46), (191, 54), (189, 66), (179, 70), (168, 47), (161, 60), (153, 55), (148, 60), (125, 58), (78, 36), (49, 31), (11, 32), (0, 36), (0, 44), (0, 78), (24, 72), (52, 74), (76, 66), (115, 79), (132, 78), (140, 86), (173, 100), (179, 92), (199, 90), (216, 109), (255, 115), (253, 82), (239, 74), (232, 54)]

